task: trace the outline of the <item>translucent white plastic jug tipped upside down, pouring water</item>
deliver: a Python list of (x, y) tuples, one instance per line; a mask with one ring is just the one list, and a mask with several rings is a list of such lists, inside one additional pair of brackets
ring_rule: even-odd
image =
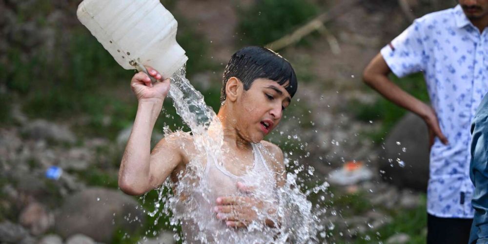
[(83, 0), (77, 15), (124, 69), (149, 65), (169, 78), (188, 60), (159, 0)]

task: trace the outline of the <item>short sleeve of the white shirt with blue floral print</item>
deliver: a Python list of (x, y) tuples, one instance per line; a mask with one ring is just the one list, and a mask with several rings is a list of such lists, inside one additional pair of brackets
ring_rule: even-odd
[(415, 20), (402, 34), (381, 49), (388, 67), (398, 77), (425, 70), (423, 21)]

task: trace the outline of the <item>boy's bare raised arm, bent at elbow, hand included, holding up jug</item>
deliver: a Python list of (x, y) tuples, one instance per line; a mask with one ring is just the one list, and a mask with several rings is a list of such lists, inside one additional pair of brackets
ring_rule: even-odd
[[(162, 79), (156, 70), (150, 67), (147, 70), (157, 80)], [(152, 84), (143, 72), (131, 80), (139, 105), (119, 169), (119, 187), (126, 194), (141, 195), (157, 187), (182, 161), (171, 140), (161, 140), (151, 153), (151, 133), (168, 94), (169, 82), (166, 79)]]

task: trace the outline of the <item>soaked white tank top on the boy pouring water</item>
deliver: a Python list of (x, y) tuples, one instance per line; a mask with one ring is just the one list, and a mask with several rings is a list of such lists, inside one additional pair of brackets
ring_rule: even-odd
[[(253, 144), (254, 164), (242, 176), (228, 172), (223, 165), (211, 155), (207, 155), (207, 163), (200, 181), (193, 190), (189, 190), (189, 198), (178, 203), (178, 211), (184, 211), (182, 229), (185, 243), (271, 243), (276, 229), (264, 226), (263, 220), (249, 225), (247, 228), (227, 227), (225, 222), (217, 219), (214, 207), (216, 199), (223, 196), (250, 196), (273, 203), (276, 182), (274, 173), (269, 169), (261, 154), (264, 146)], [(265, 149), (264, 149), (265, 150)], [(256, 187), (252, 193), (243, 193), (237, 183)], [(182, 212), (180, 212), (181, 214)]]

